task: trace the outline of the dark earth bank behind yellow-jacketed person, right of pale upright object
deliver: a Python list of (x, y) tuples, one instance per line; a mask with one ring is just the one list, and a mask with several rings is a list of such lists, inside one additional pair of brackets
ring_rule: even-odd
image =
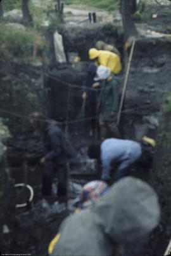
[(86, 26), (62, 25), (59, 29), (63, 36), (63, 44), (66, 52), (76, 51), (81, 60), (88, 60), (88, 51), (95, 47), (98, 40), (105, 41), (108, 44), (114, 44), (120, 52), (123, 51), (122, 27), (115, 26), (112, 23), (94, 24)]

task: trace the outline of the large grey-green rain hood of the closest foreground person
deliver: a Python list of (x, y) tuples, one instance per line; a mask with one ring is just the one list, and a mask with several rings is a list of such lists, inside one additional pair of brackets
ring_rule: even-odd
[(92, 208), (94, 222), (120, 243), (144, 238), (160, 220), (160, 206), (155, 191), (136, 178), (117, 182)]

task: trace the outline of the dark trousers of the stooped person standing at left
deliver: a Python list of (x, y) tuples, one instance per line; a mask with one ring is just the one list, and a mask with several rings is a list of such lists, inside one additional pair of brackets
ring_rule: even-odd
[(51, 196), (53, 177), (58, 178), (57, 196), (66, 196), (67, 192), (67, 169), (66, 165), (55, 165), (54, 163), (46, 163), (42, 174), (42, 195)]

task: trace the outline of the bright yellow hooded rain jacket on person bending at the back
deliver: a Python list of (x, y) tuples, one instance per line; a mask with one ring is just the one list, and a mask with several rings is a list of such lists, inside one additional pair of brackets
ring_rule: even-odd
[(94, 62), (97, 62), (98, 65), (109, 67), (113, 74), (118, 74), (122, 70), (120, 57), (111, 51), (103, 51), (97, 50), (96, 48), (91, 48), (89, 50), (89, 59), (94, 60)]

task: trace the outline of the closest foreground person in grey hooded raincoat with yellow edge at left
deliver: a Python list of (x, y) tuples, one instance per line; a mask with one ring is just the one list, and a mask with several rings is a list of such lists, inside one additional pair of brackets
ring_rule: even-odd
[(145, 182), (127, 177), (113, 185), (92, 208), (67, 217), (50, 255), (115, 255), (118, 245), (145, 239), (159, 223), (155, 191)]

